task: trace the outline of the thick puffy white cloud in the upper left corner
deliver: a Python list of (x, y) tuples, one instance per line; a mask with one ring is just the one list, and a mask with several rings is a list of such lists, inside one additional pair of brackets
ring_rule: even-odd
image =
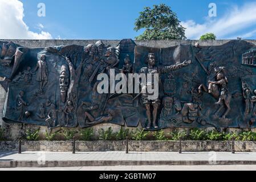
[(21, 1), (0, 0), (0, 12), (0, 39), (52, 39), (49, 32), (29, 30), (23, 21), (24, 9)]

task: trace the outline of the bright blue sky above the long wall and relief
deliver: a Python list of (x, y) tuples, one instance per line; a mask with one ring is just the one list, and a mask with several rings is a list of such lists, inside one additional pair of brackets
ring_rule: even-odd
[[(8, 8), (23, 7), (21, 24), (25, 24), (23, 29), (29, 33), (24, 32), (18, 37), (21, 39), (133, 39), (142, 32), (133, 30), (139, 12), (145, 6), (160, 3), (177, 13), (182, 25), (187, 27), (188, 39), (197, 39), (205, 32), (216, 33), (218, 39), (236, 39), (238, 36), (256, 39), (256, 1), (250, 0), (20, 0), (18, 5), (18, 0), (8, 1), (13, 2)], [(0, 3), (7, 2), (0, 0)], [(38, 3), (46, 5), (45, 17), (37, 16)], [(217, 17), (208, 16), (209, 3), (216, 3)], [(19, 14), (20, 9), (17, 8)], [(14, 24), (15, 30), (17, 23)], [(11, 25), (10, 28), (13, 29)], [(0, 36), (3, 36), (1, 30)], [(10, 33), (9, 36), (17, 38), (19, 35)]]

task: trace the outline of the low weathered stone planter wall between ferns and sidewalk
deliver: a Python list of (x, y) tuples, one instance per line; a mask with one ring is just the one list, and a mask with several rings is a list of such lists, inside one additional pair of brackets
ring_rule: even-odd
[[(126, 141), (76, 141), (76, 151), (125, 151)], [(231, 151), (230, 141), (183, 141), (183, 152)], [(178, 141), (129, 141), (129, 151), (137, 152), (178, 152)], [(256, 142), (235, 141), (236, 152), (256, 152)], [(0, 142), (0, 151), (18, 151), (18, 142)], [(71, 152), (72, 141), (22, 142), (22, 151)]]

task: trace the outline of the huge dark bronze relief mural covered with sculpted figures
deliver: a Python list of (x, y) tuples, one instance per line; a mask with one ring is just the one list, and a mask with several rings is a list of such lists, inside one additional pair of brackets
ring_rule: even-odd
[[(146, 130), (256, 127), (256, 47), (243, 40), (161, 49), (129, 39), (116, 46), (98, 41), (45, 48), (0, 42), (0, 47), (0, 83), (8, 90), (3, 120), (8, 123), (50, 129), (100, 123), (141, 123)], [(145, 82), (136, 74), (144, 74)], [(111, 85), (126, 92), (113, 92)], [(159, 90), (157, 97), (150, 97), (149, 86)]]

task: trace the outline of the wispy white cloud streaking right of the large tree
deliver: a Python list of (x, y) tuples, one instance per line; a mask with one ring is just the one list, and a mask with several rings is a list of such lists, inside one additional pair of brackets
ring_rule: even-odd
[[(238, 31), (256, 25), (256, 3), (246, 3), (242, 7), (230, 7), (229, 12), (224, 16), (212, 20), (208, 18), (203, 24), (196, 23), (194, 20), (181, 22), (181, 24), (186, 27), (188, 39), (198, 39), (207, 32), (213, 32), (218, 39), (231, 38), (231, 35), (238, 34)], [(245, 32), (239, 37), (250, 38), (254, 34), (255, 31)]]

